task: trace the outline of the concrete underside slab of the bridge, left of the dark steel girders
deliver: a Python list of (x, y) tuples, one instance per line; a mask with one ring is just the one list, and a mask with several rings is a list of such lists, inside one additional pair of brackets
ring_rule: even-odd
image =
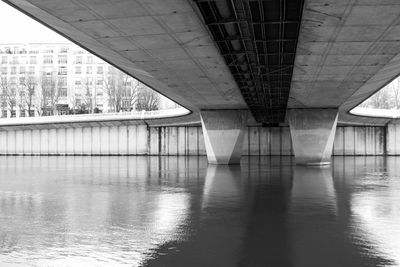
[(5, 2), (192, 111), (246, 108), (192, 1)]

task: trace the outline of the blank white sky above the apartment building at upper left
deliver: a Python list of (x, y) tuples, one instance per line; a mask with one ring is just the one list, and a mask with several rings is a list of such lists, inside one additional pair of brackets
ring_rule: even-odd
[(0, 1), (0, 25), (0, 43), (69, 43), (3, 1)]

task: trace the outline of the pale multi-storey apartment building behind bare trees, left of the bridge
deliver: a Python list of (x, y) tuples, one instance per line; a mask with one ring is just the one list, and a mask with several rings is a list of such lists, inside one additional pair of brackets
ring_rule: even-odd
[(130, 111), (151, 90), (72, 43), (0, 44), (0, 76), (1, 117)]

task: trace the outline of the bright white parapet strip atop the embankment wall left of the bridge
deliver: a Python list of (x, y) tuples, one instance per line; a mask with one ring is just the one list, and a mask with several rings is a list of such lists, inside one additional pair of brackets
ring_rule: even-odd
[(120, 113), (96, 113), (80, 115), (57, 115), (45, 117), (19, 117), (2, 118), (0, 126), (24, 125), (24, 124), (51, 124), (73, 122), (97, 122), (116, 120), (149, 120), (184, 116), (190, 111), (185, 108), (164, 109), (155, 111), (133, 111)]

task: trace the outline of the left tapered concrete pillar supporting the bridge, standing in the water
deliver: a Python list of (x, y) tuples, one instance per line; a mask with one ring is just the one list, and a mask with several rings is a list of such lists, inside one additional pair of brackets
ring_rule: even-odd
[(202, 110), (201, 125), (211, 164), (240, 164), (247, 110)]

